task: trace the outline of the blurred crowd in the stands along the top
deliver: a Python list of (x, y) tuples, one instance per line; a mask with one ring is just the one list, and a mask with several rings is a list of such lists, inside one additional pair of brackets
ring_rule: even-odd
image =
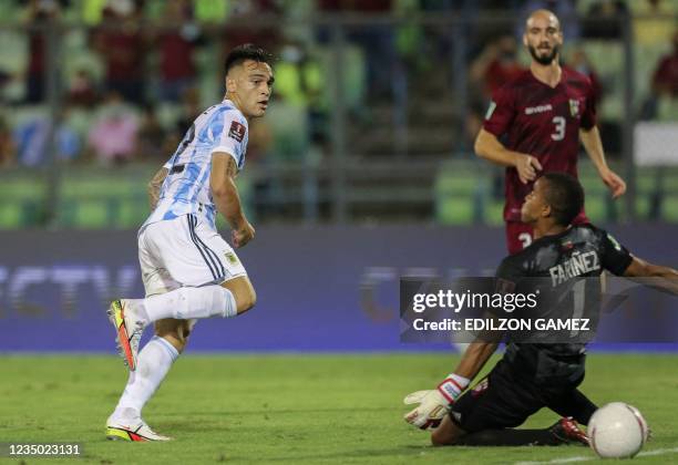
[[(522, 19), (536, 8), (561, 17), (564, 62), (590, 76), (600, 103), (616, 99), (620, 71), (606, 69), (606, 60), (592, 58), (590, 50), (604, 55), (606, 44), (620, 46), (620, 18), (633, 24), (640, 59), (651, 60), (638, 82), (637, 116), (660, 117), (665, 102), (678, 99), (678, 0), (4, 0), (0, 166), (51, 163), (52, 143), (59, 163), (166, 159), (193, 118), (220, 100), (224, 56), (245, 42), (278, 56), (275, 105), (251, 126), (248, 161), (300, 161), (314, 151), (322, 157), (332, 131), (338, 34), (347, 44), (341, 95), (362, 132), (379, 124), (370, 108), (398, 114), (397, 108), (435, 95), (436, 102), (446, 99), (459, 118), (455, 146), (468, 151), (492, 92), (526, 65), (522, 20), (474, 21), (489, 12)], [(420, 12), (451, 12), (468, 22), (450, 33), (408, 21)], [(308, 20), (331, 13), (390, 14), (403, 21), (362, 21), (338, 30)], [(468, 107), (461, 113), (451, 85), (458, 71), (450, 66), (460, 37), (463, 56), (454, 63), (463, 63), (468, 76)], [(588, 42), (598, 48), (587, 49)], [(438, 70), (441, 62), (446, 71)], [(49, 75), (54, 69), (56, 75)], [(609, 106), (614, 141), (618, 121)], [(405, 110), (398, 121), (407, 126), (410, 120)]]

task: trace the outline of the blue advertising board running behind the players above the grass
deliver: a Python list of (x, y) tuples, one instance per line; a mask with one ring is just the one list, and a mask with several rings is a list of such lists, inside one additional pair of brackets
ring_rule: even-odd
[[(677, 226), (615, 227), (640, 257), (678, 266)], [(0, 351), (113, 350), (107, 302), (141, 298), (135, 231), (0, 232)], [(198, 322), (191, 351), (392, 351), (403, 276), (491, 276), (505, 256), (496, 228), (266, 227), (238, 250), (257, 306)], [(678, 301), (677, 301), (678, 307)]]

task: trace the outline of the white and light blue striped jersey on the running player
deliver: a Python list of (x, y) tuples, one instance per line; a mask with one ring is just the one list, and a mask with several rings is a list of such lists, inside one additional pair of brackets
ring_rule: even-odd
[(161, 187), (157, 206), (142, 229), (187, 214), (197, 215), (214, 228), (216, 208), (209, 188), (212, 154), (232, 155), (240, 170), (247, 141), (247, 120), (232, 101), (225, 100), (203, 112), (164, 165), (170, 172)]

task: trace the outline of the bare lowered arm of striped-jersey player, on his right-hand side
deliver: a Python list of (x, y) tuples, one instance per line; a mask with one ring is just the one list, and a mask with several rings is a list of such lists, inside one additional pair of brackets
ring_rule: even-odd
[(217, 210), (224, 215), (233, 229), (233, 245), (243, 247), (254, 238), (255, 230), (243, 213), (240, 196), (235, 185), (238, 167), (233, 156), (222, 152), (212, 155), (209, 176), (212, 198)]

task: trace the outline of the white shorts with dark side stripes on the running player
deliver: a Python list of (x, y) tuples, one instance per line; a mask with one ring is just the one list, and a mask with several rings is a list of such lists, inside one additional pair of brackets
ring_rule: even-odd
[(138, 235), (146, 297), (247, 276), (233, 248), (195, 215), (152, 223)]

